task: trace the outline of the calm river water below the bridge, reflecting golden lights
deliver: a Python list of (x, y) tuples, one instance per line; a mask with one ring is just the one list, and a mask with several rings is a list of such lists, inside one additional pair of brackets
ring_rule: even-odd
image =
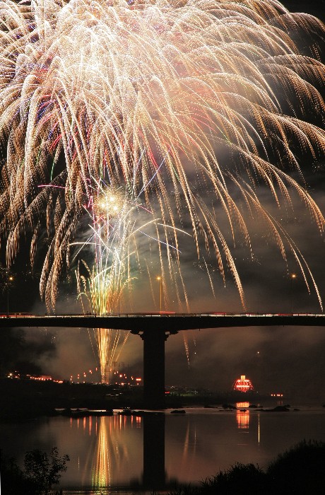
[[(235, 462), (264, 467), (302, 439), (325, 441), (324, 407), (259, 412), (247, 403), (237, 410), (187, 408), (185, 414), (43, 418), (1, 424), (4, 455), (22, 464), (27, 450), (68, 454), (60, 486), (64, 494), (169, 489), (198, 484)], [(274, 404), (273, 404), (274, 406)]]

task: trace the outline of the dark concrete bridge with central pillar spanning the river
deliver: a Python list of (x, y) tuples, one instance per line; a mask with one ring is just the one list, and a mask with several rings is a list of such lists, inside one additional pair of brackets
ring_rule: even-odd
[(127, 313), (119, 315), (0, 315), (0, 328), (66, 327), (126, 330), (143, 339), (143, 402), (148, 409), (165, 404), (165, 340), (179, 331), (204, 328), (324, 327), (325, 315), (310, 313)]

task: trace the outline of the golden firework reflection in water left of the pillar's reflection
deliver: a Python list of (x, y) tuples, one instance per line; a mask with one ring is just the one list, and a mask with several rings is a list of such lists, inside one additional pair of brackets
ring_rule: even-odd
[(59, 450), (69, 452), (71, 462), (64, 475), (66, 487), (102, 491), (111, 487), (141, 485), (143, 466), (143, 418), (114, 414), (107, 417), (64, 418), (57, 431)]

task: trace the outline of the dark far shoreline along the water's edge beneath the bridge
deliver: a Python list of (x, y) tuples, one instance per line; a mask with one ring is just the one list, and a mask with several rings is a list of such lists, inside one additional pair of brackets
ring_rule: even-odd
[[(142, 390), (122, 390), (119, 395), (110, 393), (110, 385), (102, 384), (71, 384), (52, 382), (32, 382), (30, 380), (0, 379), (1, 409), (0, 422), (14, 423), (31, 421), (39, 417), (55, 417), (59, 413), (57, 409), (66, 411), (65, 415), (79, 417), (85, 415), (101, 415), (96, 412), (104, 412), (102, 415), (113, 414), (113, 410), (124, 410), (124, 414), (131, 411), (147, 410), (143, 407)], [(245, 405), (249, 402), (249, 406)], [(272, 410), (273, 408), (291, 409), (294, 404), (315, 404), (324, 407), (320, 400), (289, 400), (286, 397), (271, 397), (258, 392), (206, 392), (201, 395), (184, 396), (168, 395), (163, 410), (184, 408), (201, 408), (218, 410)], [(242, 403), (239, 407), (234, 404)], [(90, 413), (82, 412), (82, 409)], [(71, 413), (71, 411), (74, 411)], [(160, 409), (162, 410), (162, 409)], [(280, 411), (281, 409), (278, 409)]]

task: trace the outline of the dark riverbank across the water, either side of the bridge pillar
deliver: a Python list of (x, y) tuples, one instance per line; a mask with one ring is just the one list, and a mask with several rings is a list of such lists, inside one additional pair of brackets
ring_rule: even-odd
[[(56, 409), (143, 409), (141, 387), (119, 388), (115, 385), (93, 383), (55, 383), (53, 381), (0, 379), (0, 421), (30, 421), (37, 417), (51, 417)], [(166, 395), (166, 408), (189, 406), (213, 407), (249, 401), (252, 404), (272, 402), (271, 397), (257, 393), (202, 392), (196, 395)], [(273, 399), (276, 405), (276, 399)]]

